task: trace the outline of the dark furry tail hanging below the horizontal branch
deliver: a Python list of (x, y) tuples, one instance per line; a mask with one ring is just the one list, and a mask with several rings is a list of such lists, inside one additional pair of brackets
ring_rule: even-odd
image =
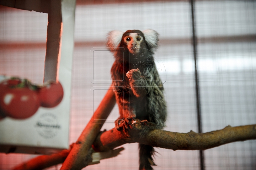
[(155, 150), (152, 146), (139, 143), (139, 169), (151, 170), (151, 165), (155, 165), (152, 155)]

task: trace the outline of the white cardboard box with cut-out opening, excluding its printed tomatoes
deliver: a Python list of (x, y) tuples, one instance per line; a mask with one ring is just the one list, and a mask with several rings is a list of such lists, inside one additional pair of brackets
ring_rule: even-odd
[[(50, 154), (66, 149), (69, 147), (75, 0), (18, 0), (9, 4), (2, 3), (4, 2), (2, 1), (1, 5), (48, 13), (44, 81), (59, 81), (64, 96), (56, 107), (39, 107), (37, 112), (27, 119), (1, 119), (0, 152)], [(5, 78), (1, 77), (2, 80)]]

